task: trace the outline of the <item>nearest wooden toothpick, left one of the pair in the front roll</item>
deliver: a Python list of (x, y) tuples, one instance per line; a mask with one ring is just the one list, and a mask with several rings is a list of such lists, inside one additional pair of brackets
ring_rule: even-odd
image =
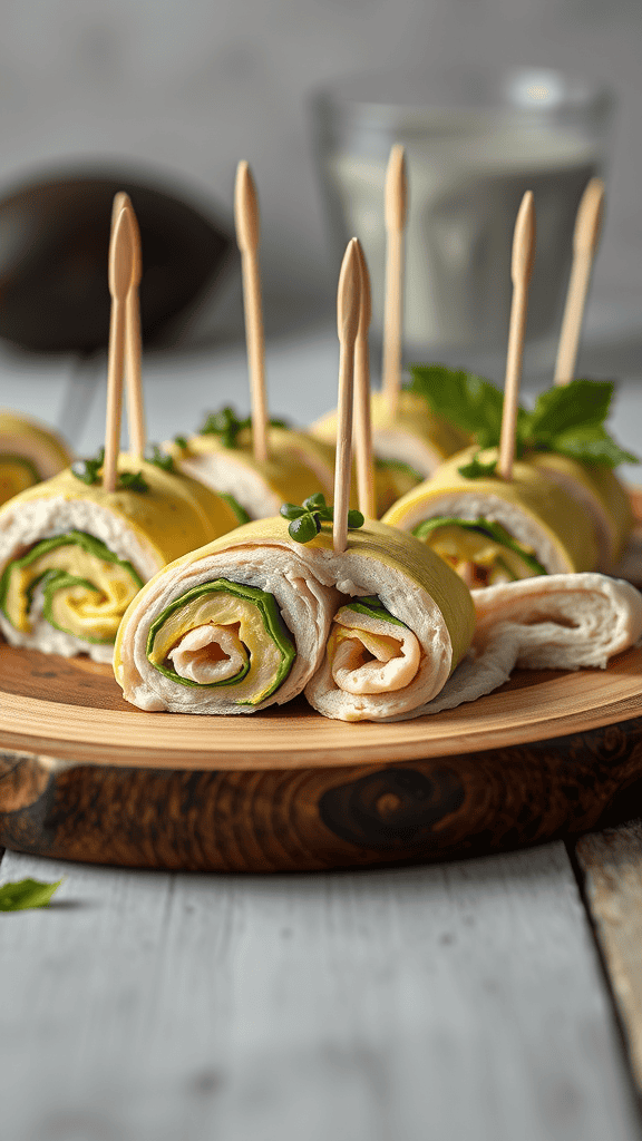
[(337, 459), (335, 468), (335, 521), (332, 545), (340, 555), (347, 545), (347, 512), (352, 467), (352, 405), (354, 398), (354, 342), (361, 309), (361, 272), (356, 238), (347, 244), (337, 291), (339, 334), (339, 399), (337, 406)]

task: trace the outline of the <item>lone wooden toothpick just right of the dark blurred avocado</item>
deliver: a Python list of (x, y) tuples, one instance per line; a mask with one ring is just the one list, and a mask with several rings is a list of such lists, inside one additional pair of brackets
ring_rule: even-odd
[(254, 456), (255, 460), (264, 463), (267, 459), (267, 400), (265, 396), (265, 337), (258, 267), (259, 215), (256, 186), (247, 162), (240, 162), (236, 168), (234, 219), (243, 275)]

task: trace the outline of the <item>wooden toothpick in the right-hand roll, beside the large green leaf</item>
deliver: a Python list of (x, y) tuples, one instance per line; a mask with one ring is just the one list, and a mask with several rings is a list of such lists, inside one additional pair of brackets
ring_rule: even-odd
[(522, 199), (513, 234), (513, 256), (511, 261), (513, 300), (511, 304), (508, 354), (506, 359), (506, 380), (504, 383), (504, 412), (501, 415), (501, 437), (499, 440), (499, 462), (497, 466), (498, 475), (501, 479), (507, 480), (513, 477), (517, 403), (520, 398), (520, 380), (522, 375), (522, 357), (527, 327), (528, 288), (532, 274), (533, 260), (535, 205), (532, 191), (527, 191)]

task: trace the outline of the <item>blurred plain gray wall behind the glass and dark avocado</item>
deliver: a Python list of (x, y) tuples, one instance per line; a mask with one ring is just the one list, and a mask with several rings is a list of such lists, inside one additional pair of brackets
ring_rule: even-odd
[(0, 183), (63, 157), (129, 156), (230, 209), (246, 157), (260, 192), (268, 300), (328, 311), (337, 266), (311, 90), (449, 58), (559, 66), (619, 92), (594, 297), (642, 311), (641, 51), (640, 0), (5, 0)]

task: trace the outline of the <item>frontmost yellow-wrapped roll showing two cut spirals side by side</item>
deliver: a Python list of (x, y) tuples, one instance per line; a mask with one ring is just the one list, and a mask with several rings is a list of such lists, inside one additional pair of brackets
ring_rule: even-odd
[[(355, 596), (366, 598), (358, 609)], [(364, 691), (359, 647), (350, 677), (328, 693), (316, 685), (331, 624), (335, 641), (359, 642), (372, 662), (383, 647), (390, 693), (385, 679), (372, 679), (378, 666), (366, 669)], [(473, 624), (466, 588), (411, 536), (368, 523), (335, 555), (329, 532), (296, 543), (276, 517), (193, 551), (147, 583), (122, 621), (114, 673), (127, 701), (146, 710), (251, 713), (307, 687), (322, 712), (338, 702), (342, 712), (329, 715), (376, 719), (386, 697), (407, 706), (441, 688)]]

